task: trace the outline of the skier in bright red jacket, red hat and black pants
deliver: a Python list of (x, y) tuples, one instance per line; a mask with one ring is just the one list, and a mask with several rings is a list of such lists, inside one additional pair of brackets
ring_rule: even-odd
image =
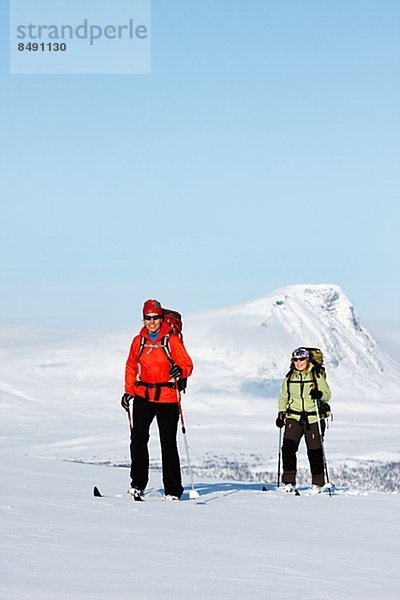
[(144, 327), (133, 339), (125, 371), (125, 394), (121, 405), (129, 411), (133, 400), (131, 433), (131, 488), (141, 500), (149, 479), (148, 441), (156, 417), (160, 433), (163, 483), (166, 500), (179, 500), (183, 493), (177, 430), (179, 421), (178, 379), (191, 375), (193, 363), (178, 335), (163, 321), (157, 300), (143, 306)]

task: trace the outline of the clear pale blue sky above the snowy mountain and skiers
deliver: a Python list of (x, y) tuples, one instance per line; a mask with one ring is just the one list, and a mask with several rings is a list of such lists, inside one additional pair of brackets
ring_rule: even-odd
[(3, 322), (324, 282), (398, 318), (398, 0), (153, 0), (138, 76), (10, 75), (0, 6)]

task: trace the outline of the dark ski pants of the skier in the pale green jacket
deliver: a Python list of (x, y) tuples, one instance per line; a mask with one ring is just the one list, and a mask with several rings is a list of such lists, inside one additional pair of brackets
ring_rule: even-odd
[[(325, 422), (321, 421), (321, 432), (324, 434)], [(285, 434), (282, 444), (282, 483), (296, 483), (297, 450), (301, 438), (305, 437), (308, 462), (314, 485), (324, 485), (324, 458), (318, 423), (299, 423), (296, 419), (286, 419)]]

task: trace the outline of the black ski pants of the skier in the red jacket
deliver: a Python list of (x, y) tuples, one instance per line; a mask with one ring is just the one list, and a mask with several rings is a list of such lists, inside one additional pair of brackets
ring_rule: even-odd
[(149, 402), (141, 396), (133, 401), (131, 432), (131, 485), (144, 490), (149, 480), (150, 425), (156, 417), (160, 434), (162, 472), (165, 494), (181, 497), (183, 493), (181, 468), (176, 435), (179, 406), (174, 403)]

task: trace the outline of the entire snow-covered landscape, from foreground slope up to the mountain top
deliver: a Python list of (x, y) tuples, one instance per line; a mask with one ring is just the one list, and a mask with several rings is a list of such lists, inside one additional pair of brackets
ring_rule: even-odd
[[(119, 398), (131, 333), (1, 327), (1, 598), (399, 597), (400, 499), (382, 493), (399, 490), (397, 363), (336, 286), (294, 286), (217, 312), (185, 321), (197, 502), (181, 434), (186, 493), (161, 500), (156, 429), (146, 501), (125, 494)], [(326, 451), (340, 493), (288, 496), (272, 489), (277, 391), (292, 347), (324, 342), (335, 414)], [(306, 485), (304, 447), (299, 466)]]

